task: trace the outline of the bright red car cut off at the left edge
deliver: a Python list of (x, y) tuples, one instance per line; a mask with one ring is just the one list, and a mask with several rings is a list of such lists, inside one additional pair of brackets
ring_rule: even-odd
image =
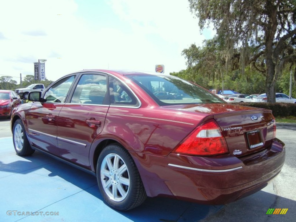
[(0, 90), (0, 117), (10, 118), (12, 110), (21, 104), (20, 96), (12, 90)]

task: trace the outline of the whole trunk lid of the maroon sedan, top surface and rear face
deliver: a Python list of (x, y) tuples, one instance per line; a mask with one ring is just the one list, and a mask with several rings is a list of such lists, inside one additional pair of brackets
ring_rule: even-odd
[(266, 149), (275, 136), (271, 110), (224, 103), (176, 105), (167, 108), (212, 116), (221, 128), (229, 153), (237, 157)]

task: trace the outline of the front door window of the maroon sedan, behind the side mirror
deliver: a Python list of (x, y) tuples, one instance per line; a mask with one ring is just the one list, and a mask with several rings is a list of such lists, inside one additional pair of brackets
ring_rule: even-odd
[(75, 75), (68, 76), (50, 87), (43, 99), (44, 102), (65, 102), (67, 93), (75, 79)]

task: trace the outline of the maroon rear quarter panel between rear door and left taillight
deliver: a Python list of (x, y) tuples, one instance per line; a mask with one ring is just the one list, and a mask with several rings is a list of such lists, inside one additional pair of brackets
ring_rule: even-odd
[(167, 156), (198, 124), (208, 118), (213, 116), (176, 112), (162, 107), (110, 107), (103, 131), (91, 146), (91, 166), (96, 164), (95, 160), (91, 160), (96, 147), (107, 139), (117, 141), (131, 152)]

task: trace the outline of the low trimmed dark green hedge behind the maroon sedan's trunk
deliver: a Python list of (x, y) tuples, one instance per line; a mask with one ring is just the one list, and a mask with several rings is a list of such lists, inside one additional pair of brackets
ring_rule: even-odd
[(238, 102), (231, 104), (269, 109), (272, 110), (272, 114), (274, 115), (274, 117), (296, 116), (296, 104), (294, 103)]

